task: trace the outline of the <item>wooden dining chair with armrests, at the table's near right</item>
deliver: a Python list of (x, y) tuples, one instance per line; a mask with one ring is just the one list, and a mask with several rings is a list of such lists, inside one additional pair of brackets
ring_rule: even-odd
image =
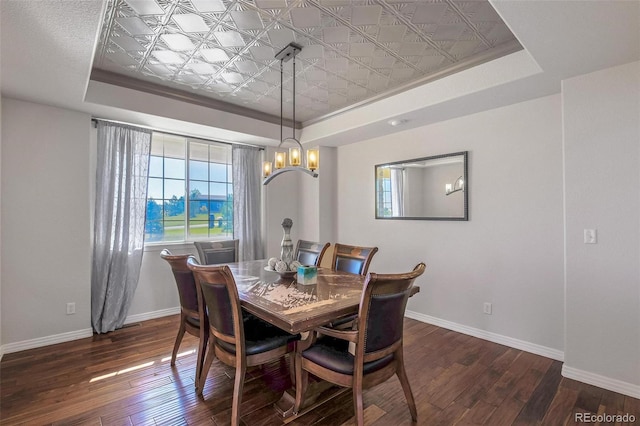
[(314, 331), (316, 336), (300, 342), (294, 364), (295, 413), (300, 411), (311, 373), (353, 389), (356, 421), (361, 426), (364, 423), (362, 390), (395, 374), (402, 385), (411, 418), (417, 422), (416, 404), (403, 361), (402, 325), (413, 282), (425, 268), (424, 263), (419, 263), (408, 273), (369, 274), (353, 330), (320, 327)]

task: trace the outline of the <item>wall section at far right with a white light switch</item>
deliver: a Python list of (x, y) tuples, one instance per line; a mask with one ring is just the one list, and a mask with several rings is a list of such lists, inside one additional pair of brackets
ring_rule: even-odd
[[(565, 372), (636, 385), (640, 397), (640, 63), (564, 81), (562, 103)], [(585, 228), (597, 244), (583, 243)]]

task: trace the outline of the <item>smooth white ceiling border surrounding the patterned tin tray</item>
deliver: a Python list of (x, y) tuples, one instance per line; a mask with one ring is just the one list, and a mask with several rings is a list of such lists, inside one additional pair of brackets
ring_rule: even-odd
[[(317, 122), (303, 143), (337, 146), (560, 91), (563, 79), (640, 60), (638, 1), (491, 4), (524, 50)], [(107, 4), (0, 1), (2, 96), (202, 137), (277, 144), (276, 124), (175, 93), (90, 81)], [(403, 119), (402, 127), (388, 124)]]

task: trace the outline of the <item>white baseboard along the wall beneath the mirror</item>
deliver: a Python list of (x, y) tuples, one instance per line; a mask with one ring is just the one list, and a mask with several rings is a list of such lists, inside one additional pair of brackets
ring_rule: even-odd
[(452, 321), (432, 317), (430, 315), (421, 314), (419, 312), (406, 311), (405, 315), (411, 319), (425, 322), (427, 324), (437, 325), (438, 327), (446, 328), (447, 330), (457, 331), (458, 333), (477, 337), (483, 340), (488, 340), (493, 343), (509, 346), (510, 348), (519, 349), (525, 352), (531, 352), (532, 354), (544, 356), (558, 361), (564, 360), (564, 352), (557, 349), (549, 348), (547, 346), (537, 345), (535, 343), (526, 342), (524, 340), (515, 339), (513, 337), (504, 336), (498, 333), (492, 333), (486, 330), (480, 330), (479, 328), (469, 327)]

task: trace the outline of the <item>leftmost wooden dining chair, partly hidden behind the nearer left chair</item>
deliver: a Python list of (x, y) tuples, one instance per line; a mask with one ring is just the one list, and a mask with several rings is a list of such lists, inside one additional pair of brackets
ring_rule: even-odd
[(185, 332), (199, 338), (195, 374), (195, 386), (197, 388), (200, 383), (200, 374), (202, 373), (204, 352), (207, 347), (207, 340), (209, 339), (209, 333), (207, 332), (209, 320), (207, 319), (207, 312), (204, 308), (202, 293), (198, 286), (196, 286), (193, 273), (187, 266), (189, 256), (191, 255), (171, 254), (167, 249), (160, 252), (160, 257), (166, 260), (171, 266), (180, 298), (180, 328), (178, 329), (178, 335), (176, 336), (173, 352), (171, 353), (171, 365), (176, 365), (176, 356), (178, 355), (178, 349), (180, 348), (180, 343), (182, 343)]

